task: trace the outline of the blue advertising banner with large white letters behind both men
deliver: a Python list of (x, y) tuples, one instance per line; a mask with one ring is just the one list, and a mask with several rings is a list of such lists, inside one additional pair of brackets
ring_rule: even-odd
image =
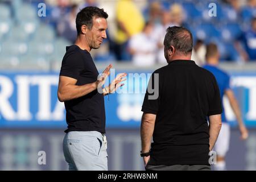
[[(105, 96), (109, 128), (138, 128), (141, 123), (141, 106), (151, 71), (127, 73), (125, 85), (117, 93)], [(112, 70), (109, 80), (117, 74)], [(230, 75), (246, 126), (256, 127), (256, 73), (231, 72)], [(0, 127), (65, 129), (65, 107), (57, 100), (58, 82), (59, 74), (53, 72), (1, 73)], [(226, 98), (224, 106), (230, 124), (236, 125)]]

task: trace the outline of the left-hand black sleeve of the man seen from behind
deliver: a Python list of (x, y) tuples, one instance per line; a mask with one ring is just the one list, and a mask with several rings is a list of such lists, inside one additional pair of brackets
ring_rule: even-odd
[(157, 114), (159, 101), (159, 73), (152, 73), (147, 85), (142, 111), (144, 113)]

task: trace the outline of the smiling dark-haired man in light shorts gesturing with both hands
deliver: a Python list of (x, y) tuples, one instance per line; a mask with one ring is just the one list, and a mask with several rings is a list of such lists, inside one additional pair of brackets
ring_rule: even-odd
[(67, 111), (63, 152), (69, 170), (108, 170), (104, 96), (123, 85), (126, 73), (102, 89), (112, 65), (98, 77), (89, 52), (106, 38), (106, 18), (98, 7), (85, 7), (77, 14), (77, 40), (67, 47), (61, 65), (57, 95)]

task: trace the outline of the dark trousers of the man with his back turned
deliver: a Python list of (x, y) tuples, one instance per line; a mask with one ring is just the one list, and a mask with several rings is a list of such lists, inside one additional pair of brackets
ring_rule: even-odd
[(210, 166), (208, 165), (147, 165), (145, 167), (146, 171), (210, 171)]

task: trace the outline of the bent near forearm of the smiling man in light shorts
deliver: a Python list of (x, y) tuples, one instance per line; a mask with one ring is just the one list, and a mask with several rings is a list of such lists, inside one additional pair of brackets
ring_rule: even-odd
[(97, 89), (97, 83), (93, 82), (91, 84), (85, 85), (72, 85), (68, 84), (59, 90), (58, 97), (61, 102), (72, 100), (75, 98), (79, 98), (85, 96), (86, 94), (92, 92), (93, 90)]

